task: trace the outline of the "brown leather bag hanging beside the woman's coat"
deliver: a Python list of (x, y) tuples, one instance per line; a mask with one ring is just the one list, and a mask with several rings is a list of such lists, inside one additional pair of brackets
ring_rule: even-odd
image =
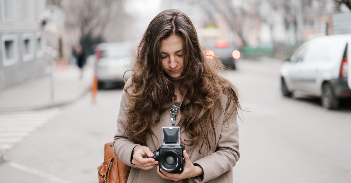
[(98, 167), (99, 183), (126, 183), (131, 167), (114, 155), (112, 145), (105, 144), (105, 161)]

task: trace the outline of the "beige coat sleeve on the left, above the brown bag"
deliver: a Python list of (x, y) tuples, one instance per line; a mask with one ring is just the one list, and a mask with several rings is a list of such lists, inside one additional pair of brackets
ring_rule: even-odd
[[(129, 81), (129, 80), (128, 80)], [(126, 83), (129, 84), (130, 81)], [(131, 163), (131, 155), (135, 144), (128, 140), (128, 138), (124, 135), (124, 131), (126, 129), (126, 121), (127, 121), (127, 107), (129, 106), (129, 100), (126, 92), (122, 91), (122, 99), (119, 107), (119, 113), (117, 118), (117, 130), (116, 134), (113, 138), (113, 151), (114, 154), (126, 165), (134, 167)]]

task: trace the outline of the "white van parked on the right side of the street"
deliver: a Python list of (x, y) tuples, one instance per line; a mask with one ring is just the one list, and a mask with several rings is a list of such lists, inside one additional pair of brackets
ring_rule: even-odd
[(351, 99), (350, 59), (351, 34), (305, 42), (280, 69), (283, 95), (303, 91), (320, 97), (323, 107), (337, 108), (339, 100)]

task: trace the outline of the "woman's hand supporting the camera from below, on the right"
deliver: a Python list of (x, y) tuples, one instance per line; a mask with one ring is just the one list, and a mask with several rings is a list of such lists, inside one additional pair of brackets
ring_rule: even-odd
[(184, 162), (184, 170), (182, 173), (172, 174), (162, 169), (160, 172), (159, 165), (157, 165), (158, 175), (160, 175), (164, 179), (169, 179), (173, 181), (179, 181), (181, 179), (203, 175), (203, 169), (199, 165), (194, 166), (193, 163), (190, 162), (190, 158), (189, 158), (189, 155), (186, 153), (186, 150), (183, 151), (183, 155), (184, 155), (185, 162)]

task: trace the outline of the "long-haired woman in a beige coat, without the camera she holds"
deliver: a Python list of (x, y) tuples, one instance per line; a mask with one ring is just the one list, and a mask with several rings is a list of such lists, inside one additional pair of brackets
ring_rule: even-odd
[[(147, 27), (122, 94), (114, 153), (132, 166), (129, 182), (232, 182), (239, 159), (234, 86), (207, 60), (184, 13), (169, 9)], [(184, 171), (159, 171), (162, 127), (179, 126)]]

